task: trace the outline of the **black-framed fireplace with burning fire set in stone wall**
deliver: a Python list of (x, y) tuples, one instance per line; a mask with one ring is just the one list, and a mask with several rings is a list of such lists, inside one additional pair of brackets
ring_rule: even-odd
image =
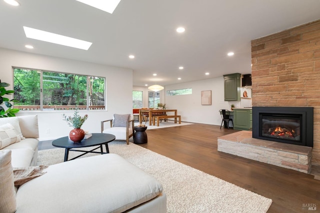
[(313, 147), (313, 107), (252, 107), (252, 138)]

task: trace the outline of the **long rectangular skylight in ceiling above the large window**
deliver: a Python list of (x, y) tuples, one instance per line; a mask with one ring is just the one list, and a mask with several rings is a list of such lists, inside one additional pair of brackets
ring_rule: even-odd
[(76, 38), (67, 37), (64, 35), (55, 34), (52, 32), (46, 32), (39, 29), (23, 26), (25, 36), (27, 38), (33, 38), (50, 43), (56, 43), (64, 46), (70, 46), (78, 49), (88, 50), (91, 46), (91, 42), (79, 40)]

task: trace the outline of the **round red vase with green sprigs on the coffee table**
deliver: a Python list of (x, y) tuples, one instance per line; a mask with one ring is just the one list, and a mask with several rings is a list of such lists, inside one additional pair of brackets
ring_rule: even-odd
[(85, 135), (85, 132), (83, 129), (81, 129), (81, 126), (88, 118), (88, 115), (85, 114), (83, 117), (81, 117), (80, 115), (78, 115), (78, 109), (76, 107), (73, 117), (66, 116), (65, 114), (63, 114), (62, 116), (64, 118), (63, 120), (65, 120), (70, 127), (73, 127), (73, 129), (69, 133), (70, 140), (74, 143), (80, 142)]

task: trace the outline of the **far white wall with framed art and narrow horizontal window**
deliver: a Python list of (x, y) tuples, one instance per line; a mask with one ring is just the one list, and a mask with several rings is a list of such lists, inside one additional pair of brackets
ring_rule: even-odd
[[(191, 95), (166, 96), (168, 109), (177, 109), (181, 120), (185, 122), (211, 125), (221, 124), (220, 109), (231, 109), (231, 104), (240, 107), (239, 101), (224, 101), (223, 76), (200, 81), (165, 86), (165, 91), (192, 88)], [(211, 105), (201, 105), (201, 91), (211, 90)]]

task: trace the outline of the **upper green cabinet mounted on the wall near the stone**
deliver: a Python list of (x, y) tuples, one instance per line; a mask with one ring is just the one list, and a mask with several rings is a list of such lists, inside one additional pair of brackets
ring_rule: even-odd
[(224, 78), (224, 101), (240, 100), (240, 73), (223, 75)]

